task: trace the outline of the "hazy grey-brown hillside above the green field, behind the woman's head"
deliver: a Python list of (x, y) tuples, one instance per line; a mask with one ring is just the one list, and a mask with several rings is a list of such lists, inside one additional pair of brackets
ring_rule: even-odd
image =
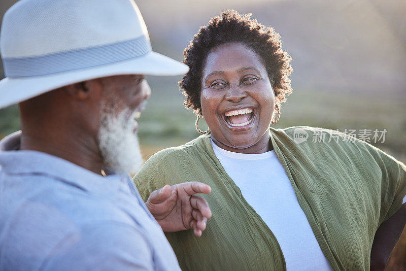
[(174, 57), (181, 57), (178, 48), (189, 43), (199, 26), (232, 8), (252, 13), (281, 34), (284, 50), (294, 59), (294, 86), (323, 92), (405, 94), (405, 1), (155, 3), (152, 7), (148, 1), (138, 2), (157, 41), (153, 47)]

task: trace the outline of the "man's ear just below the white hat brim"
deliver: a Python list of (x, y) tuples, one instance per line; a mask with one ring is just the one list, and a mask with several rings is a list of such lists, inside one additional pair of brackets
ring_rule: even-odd
[(86, 100), (101, 95), (101, 82), (97, 79), (75, 83), (65, 87), (67, 93), (79, 100)]

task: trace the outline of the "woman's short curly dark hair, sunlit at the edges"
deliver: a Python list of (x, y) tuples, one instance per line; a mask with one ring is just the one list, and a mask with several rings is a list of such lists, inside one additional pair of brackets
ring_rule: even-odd
[(235, 10), (227, 10), (212, 18), (209, 25), (200, 27), (183, 51), (183, 63), (190, 70), (178, 84), (186, 96), (186, 108), (201, 114), (200, 91), (204, 61), (214, 47), (229, 42), (241, 42), (260, 56), (274, 88), (276, 102), (279, 105), (284, 103), (286, 95), (292, 93), (289, 78), (292, 74), (292, 58), (282, 50), (280, 38), (272, 27), (265, 27), (251, 19), (251, 14), (242, 15)]

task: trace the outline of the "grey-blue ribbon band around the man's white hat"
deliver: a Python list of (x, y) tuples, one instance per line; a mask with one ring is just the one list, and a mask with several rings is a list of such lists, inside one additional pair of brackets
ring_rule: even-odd
[(3, 58), (3, 65), (7, 77), (43, 76), (111, 64), (139, 57), (150, 51), (149, 40), (142, 36), (128, 41), (43, 56)]

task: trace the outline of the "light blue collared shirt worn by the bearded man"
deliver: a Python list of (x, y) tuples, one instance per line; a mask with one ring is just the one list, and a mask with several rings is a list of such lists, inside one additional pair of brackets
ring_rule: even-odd
[(129, 176), (0, 142), (0, 270), (180, 270)]

